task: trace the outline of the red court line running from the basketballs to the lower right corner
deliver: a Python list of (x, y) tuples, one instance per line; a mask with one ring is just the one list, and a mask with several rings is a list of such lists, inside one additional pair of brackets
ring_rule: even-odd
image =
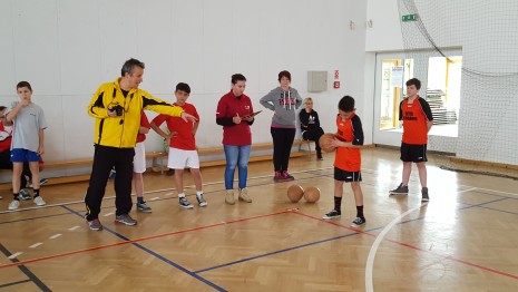
[[(307, 214), (304, 214), (304, 213), (301, 213), (301, 212), (292, 212), (292, 213), (293, 213), (293, 214), (301, 215), (301, 216), (305, 216), (305, 217), (309, 217), (309, 218), (312, 218), (312, 220), (321, 221), (321, 222), (324, 222), (324, 223), (326, 223), (326, 224), (334, 225), (334, 226), (338, 226), (338, 227), (341, 227), (341, 228), (351, 230), (351, 231), (354, 231), (354, 232), (358, 232), (358, 233), (361, 233), (361, 234), (364, 234), (364, 235), (369, 235), (369, 236), (373, 236), (373, 237), (377, 236), (375, 234), (370, 233), (370, 232), (366, 232), (366, 231), (362, 231), (362, 230), (349, 227), (349, 226), (345, 226), (345, 225), (342, 225), (342, 224), (338, 224), (338, 223), (334, 223), (334, 222), (325, 221), (325, 220), (323, 220), (323, 218), (319, 218), (319, 217), (315, 217), (315, 216), (312, 216), (312, 215), (307, 215)], [(470, 263), (470, 262), (467, 262), (467, 261), (463, 261), (463, 260), (459, 260), (459, 259), (452, 257), (451, 255), (443, 255), (443, 254), (440, 254), (440, 253), (431, 252), (431, 251), (423, 250), (423, 249), (421, 249), (421, 247), (418, 247), (418, 246), (414, 246), (414, 245), (411, 245), (411, 244), (408, 244), (408, 243), (394, 241), (394, 240), (384, 239), (383, 241), (388, 241), (388, 242), (391, 242), (391, 243), (394, 243), (394, 244), (398, 244), (398, 245), (401, 245), (401, 246), (404, 246), (404, 247), (409, 247), (409, 249), (412, 249), (412, 250), (416, 250), (416, 251), (420, 251), (420, 252), (424, 252), (424, 253), (428, 253), (428, 254), (432, 254), (432, 255), (434, 255), (434, 256), (442, 257), (442, 259), (444, 259), (444, 260), (449, 260), (449, 261), (452, 261), (452, 262), (456, 262), (456, 263), (469, 265), (469, 266), (477, 267), (477, 269), (480, 269), (480, 270), (485, 270), (485, 271), (488, 271), (488, 272), (491, 272), (491, 273), (495, 273), (495, 274), (499, 274), (499, 275), (504, 275), (504, 276), (507, 276), (507, 278), (511, 278), (511, 279), (518, 280), (518, 275), (514, 275), (514, 274), (509, 274), (509, 273), (506, 273), (506, 272), (501, 272), (501, 271), (498, 271), (498, 270), (495, 270), (495, 269), (491, 269), (491, 267), (487, 267), (487, 266), (483, 266), (483, 265)], [(0, 267), (1, 267), (1, 266), (0, 266)]]

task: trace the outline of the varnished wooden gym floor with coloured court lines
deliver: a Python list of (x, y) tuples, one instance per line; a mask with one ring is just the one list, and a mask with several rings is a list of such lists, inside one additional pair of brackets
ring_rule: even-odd
[[(101, 232), (82, 218), (87, 184), (46, 186), (47, 206), (0, 201), (1, 291), (518, 291), (518, 182), (442, 171), (428, 164), (431, 201), (410, 194), (399, 152), (363, 150), (366, 224), (345, 185), (342, 217), (333, 207), (333, 156), (291, 159), (295, 182), (273, 183), (270, 162), (248, 167), (252, 204), (224, 203), (223, 167), (202, 169), (207, 207), (182, 210), (173, 177), (147, 173), (153, 213), (114, 223), (109, 183)], [(186, 176), (192, 185), (190, 176)], [(293, 184), (317, 186), (316, 204), (289, 203)], [(193, 188), (187, 193), (195, 203)]]

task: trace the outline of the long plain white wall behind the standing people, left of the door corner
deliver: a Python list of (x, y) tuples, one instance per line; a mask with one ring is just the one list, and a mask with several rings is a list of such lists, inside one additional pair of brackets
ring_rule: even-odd
[[(222, 139), (215, 108), (231, 75), (247, 77), (245, 94), (261, 109), (258, 99), (287, 69), (302, 97), (314, 98), (324, 129), (334, 132), (340, 97), (356, 97), (365, 110), (365, 13), (366, 3), (352, 0), (1, 0), (0, 105), (17, 99), (18, 81), (30, 81), (49, 124), (46, 160), (91, 157), (94, 119), (86, 106), (134, 57), (146, 64), (143, 89), (173, 100), (178, 81), (192, 86), (198, 147), (214, 147)], [(309, 70), (329, 71), (328, 91), (306, 93)], [(332, 89), (334, 70), (341, 89)], [(256, 117), (254, 143), (271, 142), (271, 117)], [(148, 150), (162, 145), (148, 135)]]

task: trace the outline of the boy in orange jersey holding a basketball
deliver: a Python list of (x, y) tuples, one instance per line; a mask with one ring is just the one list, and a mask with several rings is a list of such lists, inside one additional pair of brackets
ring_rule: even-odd
[(334, 156), (334, 208), (323, 216), (324, 220), (336, 218), (342, 215), (343, 183), (351, 183), (351, 188), (356, 203), (356, 218), (351, 226), (363, 225), (366, 220), (363, 216), (363, 193), (360, 186), (361, 152), (363, 145), (363, 129), (360, 117), (356, 116), (354, 98), (344, 96), (339, 103), (339, 115), (336, 116), (336, 137), (331, 145), (336, 147)]

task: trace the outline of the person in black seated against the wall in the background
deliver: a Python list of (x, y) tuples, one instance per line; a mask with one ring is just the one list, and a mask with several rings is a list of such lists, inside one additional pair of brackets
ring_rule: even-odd
[(304, 108), (299, 113), (302, 138), (315, 142), (316, 159), (323, 160), (319, 139), (320, 136), (324, 135), (324, 130), (320, 127), (319, 114), (313, 110), (313, 99), (311, 97), (305, 98), (302, 103)]

